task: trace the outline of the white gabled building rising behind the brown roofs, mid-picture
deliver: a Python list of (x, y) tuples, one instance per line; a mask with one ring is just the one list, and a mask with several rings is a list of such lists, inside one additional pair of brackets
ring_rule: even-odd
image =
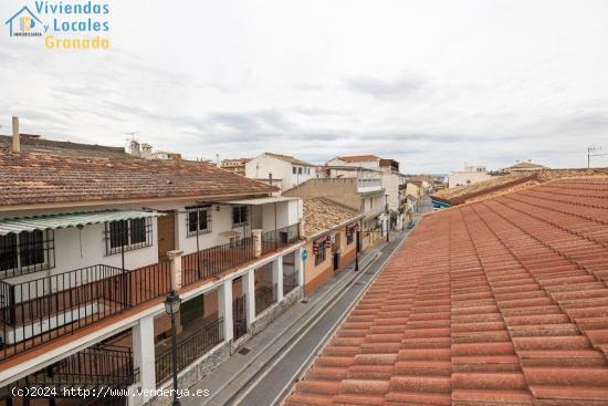
[(316, 167), (293, 156), (264, 153), (245, 164), (245, 176), (264, 183), (279, 179), (272, 184), (287, 190), (316, 178)]

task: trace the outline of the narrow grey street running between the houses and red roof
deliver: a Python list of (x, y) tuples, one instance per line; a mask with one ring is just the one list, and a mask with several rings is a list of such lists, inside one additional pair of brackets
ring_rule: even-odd
[[(423, 214), (430, 210), (432, 210), (430, 200), (424, 199), (419, 206), (420, 212), (415, 214), (415, 221), (418, 222)], [(310, 320), (303, 316), (301, 322), (295, 323), (296, 325), (283, 329), (281, 323), (293, 315), (285, 313), (279, 317), (266, 330), (269, 333), (270, 330), (274, 330), (273, 334), (282, 339), (264, 347), (247, 367), (239, 367), (237, 361), (242, 358), (244, 363), (245, 357), (251, 354), (243, 356), (235, 353), (211, 375), (195, 385), (193, 389), (209, 389), (210, 397), (184, 398), (182, 404), (195, 405), (201, 404), (202, 400), (203, 405), (213, 406), (279, 405), (409, 233), (410, 230), (395, 233), (388, 244), (371, 249), (361, 260), (359, 274), (353, 271), (353, 267), (344, 270), (345, 273), (336, 278), (338, 281), (333, 281), (335, 285), (331, 287), (327, 294), (329, 298), (317, 299), (314, 295), (308, 298), (308, 304), (316, 301), (315, 305), (318, 308), (317, 311), (312, 306), (306, 310), (310, 313), (307, 314)], [(300, 305), (302, 304), (296, 304), (296, 306)], [(256, 339), (259, 343), (255, 342)], [(256, 336), (247, 344), (247, 347), (253, 352), (256, 346), (264, 344), (266, 343)], [(218, 387), (223, 379), (229, 379), (229, 383)]]

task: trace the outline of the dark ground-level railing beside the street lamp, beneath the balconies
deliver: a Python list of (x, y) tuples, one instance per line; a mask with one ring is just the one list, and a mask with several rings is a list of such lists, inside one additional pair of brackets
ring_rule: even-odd
[[(207, 324), (199, 332), (177, 343), (177, 371), (181, 371), (223, 341), (223, 317)], [(171, 376), (171, 348), (156, 357), (156, 384)]]

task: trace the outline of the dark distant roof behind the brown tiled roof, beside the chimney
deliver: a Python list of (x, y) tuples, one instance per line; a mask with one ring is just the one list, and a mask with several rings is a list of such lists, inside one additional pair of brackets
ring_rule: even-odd
[[(21, 150), (24, 153), (53, 154), (70, 157), (138, 159), (127, 154), (123, 147), (45, 139), (32, 134), (21, 134), (20, 143)], [(9, 152), (11, 146), (12, 137), (0, 135), (0, 152)]]

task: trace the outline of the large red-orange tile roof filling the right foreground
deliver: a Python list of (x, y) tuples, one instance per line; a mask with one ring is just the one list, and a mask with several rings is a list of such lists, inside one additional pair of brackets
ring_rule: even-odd
[(607, 281), (608, 177), (434, 212), (286, 405), (608, 405)]

